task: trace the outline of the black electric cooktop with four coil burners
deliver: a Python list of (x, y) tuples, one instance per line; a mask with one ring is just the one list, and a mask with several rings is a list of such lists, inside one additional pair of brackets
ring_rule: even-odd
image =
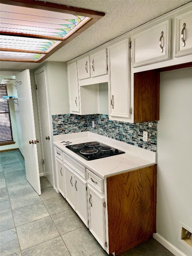
[(95, 160), (125, 153), (119, 149), (112, 148), (98, 141), (67, 145), (66, 148), (70, 149), (86, 160)]

